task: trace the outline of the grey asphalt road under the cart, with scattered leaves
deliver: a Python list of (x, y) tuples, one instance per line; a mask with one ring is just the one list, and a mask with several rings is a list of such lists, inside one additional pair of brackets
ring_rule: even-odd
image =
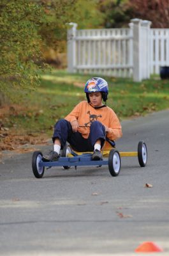
[(168, 127), (169, 111), (122, 122), (117, 148), (135, 151), (143, 140), (148, 162), (140, 168), (136, 157), (122, 157), (118, 177), (92, 166), (52, 168), (36, 179), (32, 154), (4, 159), (0, 254), (135, 255), (139, 244), (152, 241), (169, 255)]

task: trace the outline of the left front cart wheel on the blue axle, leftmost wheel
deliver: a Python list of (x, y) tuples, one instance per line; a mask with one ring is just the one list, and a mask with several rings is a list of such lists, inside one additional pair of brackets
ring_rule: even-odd
[(45, 171), (44, 166), (41, 166), (41, 167), (39, 166), (42, 156), (43, 155), (41, 154), (40, 151), (35, 151), (33, 153), (33, 160), (32, 160), (33, 173), (34, 173), (34, 176), (38, 179), (43, 177), (43, 173)]

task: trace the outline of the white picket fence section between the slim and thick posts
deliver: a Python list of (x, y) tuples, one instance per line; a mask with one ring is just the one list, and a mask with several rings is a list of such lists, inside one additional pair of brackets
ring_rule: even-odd
[(129, 76), (133, 61), (130, 29), (84, 29), (76, 36), (77, 69), (82, 72)]

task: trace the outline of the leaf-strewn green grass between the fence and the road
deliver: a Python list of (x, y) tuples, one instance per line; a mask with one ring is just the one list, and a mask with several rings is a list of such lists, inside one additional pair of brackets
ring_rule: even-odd
[[(53, 70), (51, 74), (41, 75), (41, 86), (24, 100), (21, 108), (11, 106), (3, 120), (4, 125), (26, 133), (45, 132), (51, 136), (55, 122), (86, 99), (83, 87), (90, 77), (86, 74), (68, 74), (65, 70)], [(109, 84), (107, 105), (114, 109), (121, 120), (169, 108), (167, 80), (152, 77), (134, 83), (131, 79), (102, 77)]]

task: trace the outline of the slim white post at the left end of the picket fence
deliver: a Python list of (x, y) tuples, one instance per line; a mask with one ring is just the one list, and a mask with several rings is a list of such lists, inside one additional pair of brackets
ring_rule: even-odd
[(73, 73), (73, 72), (75, 72), (75, 62), (76, 62), (76, 42), (75, 42), (75, 36), (76, 36), (76, 31), (77, 31), (77, 24), (71, 22), (71, 23), (69, 23), (69, 25), (71, 26), (71, 28), (68, 29), (68, 33), (67, 33), (68, 72)]

